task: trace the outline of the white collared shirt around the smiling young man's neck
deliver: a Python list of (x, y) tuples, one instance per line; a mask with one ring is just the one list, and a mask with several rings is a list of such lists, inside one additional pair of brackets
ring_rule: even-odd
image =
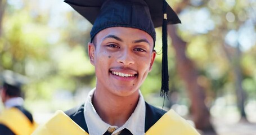
[(141, 92), (136, 109), (129, 117), (127, 122), (122, 125), (122, 127), (107, 124), (100, 118), (92, 105), (92, 96), (94, 92), (95, 89), (92, 89), (92, 91), (89, 92), (87, 101), (84, 104), (84, 118), (86, 119), (90, 135), (101, 135), (107, 130), (110, 131), (111, 129), (114, 131), (112, 134), (116, 135), (119, 134), (124, 128), (128, 129), (134, 135), (145, 134), (146, 105)]

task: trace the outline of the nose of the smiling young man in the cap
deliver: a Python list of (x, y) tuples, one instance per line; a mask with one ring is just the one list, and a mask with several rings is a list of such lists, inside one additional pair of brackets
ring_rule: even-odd
[(132, 65), (134, 64), (133, 56), (131, 52), (129, 51), (123, 51), (123, 53), (120, 54), (120, 57), (117, 60), (119, 63), (122, 63), (123, 65)]

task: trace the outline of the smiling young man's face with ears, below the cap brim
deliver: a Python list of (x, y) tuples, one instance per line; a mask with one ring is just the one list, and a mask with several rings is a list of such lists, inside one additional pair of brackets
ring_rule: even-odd
[(129, 96), (136, 92), (152, 68), (154, 41), (145, 31), (113, 27), (100, 31), (88, 44), (95, 66), (97, 91)]

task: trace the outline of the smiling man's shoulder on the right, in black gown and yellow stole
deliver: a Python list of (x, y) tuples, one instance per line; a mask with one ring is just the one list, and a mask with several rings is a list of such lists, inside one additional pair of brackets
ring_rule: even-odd
[[(177, 130), (181, 128), (182, 130)], [(199, 134), (194, 127), (172, 109), (167, 112), (147, 103), (145, 132), (148, 134)]]

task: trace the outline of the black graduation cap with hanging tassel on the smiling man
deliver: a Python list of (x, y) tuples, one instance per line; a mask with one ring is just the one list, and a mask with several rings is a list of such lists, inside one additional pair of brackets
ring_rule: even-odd
[(93, 24), (91, 42), (106, 28), (122, 26), (145, 31), (156, 40), (155, 28), (162, 26), (163, 59), (161, 96), (168, 95), (167, 24), (181, 23), (165, 0), (65, 0)]

